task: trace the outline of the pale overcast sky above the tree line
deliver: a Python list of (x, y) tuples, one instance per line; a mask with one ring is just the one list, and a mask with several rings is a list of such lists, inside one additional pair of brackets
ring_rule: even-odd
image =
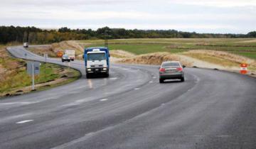
[(256, 31), (256, 0), (0, 0), (0, 26)]

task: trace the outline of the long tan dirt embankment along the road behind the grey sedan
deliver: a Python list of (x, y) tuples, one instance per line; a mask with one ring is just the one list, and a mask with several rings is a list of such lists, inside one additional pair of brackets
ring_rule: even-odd
[[(146, 65), (161, 65), (163, 61), (178, 60), (187, 67), (201, 67), (218, 70), (228, 70), (239, 72), (240, 64), (247, 63), (249, 65), (249, 74), (256, 74), (256, 62), (247, 57), (234, 55), (215, 50), (191, 50), (186, 53), (149, 53), (144, 55), (129, 55), (122, 56), (123, 52), (119, 53), (119, 57), (115, 62), (127, 64), (146, 64)], [(113, 55), (114, 57), (115, 55)], [(112, 57), (112, 58), (113, 58)]]

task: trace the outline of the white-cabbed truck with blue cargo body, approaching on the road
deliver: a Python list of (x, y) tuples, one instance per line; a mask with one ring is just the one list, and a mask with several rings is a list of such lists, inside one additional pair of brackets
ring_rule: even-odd
[(109, 77), (110, 51), (108, 48), (85, 48), (83, 58), (85, 60), (85, 72), (87, 78), (100, 74)]

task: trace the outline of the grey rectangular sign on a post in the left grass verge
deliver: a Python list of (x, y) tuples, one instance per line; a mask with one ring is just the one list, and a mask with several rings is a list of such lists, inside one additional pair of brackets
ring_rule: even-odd
[(38, 75), (40, 72), (40, 62), (27, 62), (27, 72), (29, 75), (32, 75), (32, 90), (35, 90), (35, 75)]

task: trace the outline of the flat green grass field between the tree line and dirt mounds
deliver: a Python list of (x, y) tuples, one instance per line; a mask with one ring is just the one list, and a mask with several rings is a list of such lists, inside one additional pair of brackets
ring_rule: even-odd
[[(86, 46), (104, 46), (104, 40), (79, 40)], [(170, 38), (108, 40), (110, 50), (126, 50), (140, 55), (155, 52), (181, 53), (188, 50), (220, 50), (256, 60), (255, 38)]]

